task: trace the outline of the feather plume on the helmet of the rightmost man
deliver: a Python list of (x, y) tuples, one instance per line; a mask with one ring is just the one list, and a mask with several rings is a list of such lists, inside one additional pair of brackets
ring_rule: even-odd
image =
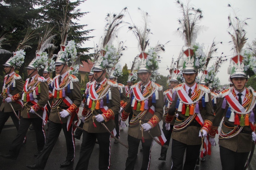
[(243, 46), (248, 40), (248, 38), (245, 37), (246, 31), (244, 29), (248, 25), (246, 20), (251, 18), (245, 18), (244, 20), (241, 20), (237, 16), (238, 9), (233, 9), (230, 4), (228, 4), (228, 7), (231, 7), (233, 11), (233, 17), (231, 14), (228, 16), (228, 28), (232, 31), (228, 31), (228, 33), (232, 38), (233, 49), (236, 53), (241, 53)]

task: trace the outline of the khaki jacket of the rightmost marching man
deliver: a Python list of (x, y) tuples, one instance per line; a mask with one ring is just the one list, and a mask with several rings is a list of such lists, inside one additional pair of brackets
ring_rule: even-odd
[[(251, 91), (249, 91), (249, 93), (251, 93)], [(216, 114), (215, 114), (215, 118), (213, 120), (212, 126), (218, 127), (222, 121), (223, 116), (224, 116), (224, 121), (223, 121), (221, 129), (223, 130), (223, 132), (228, 133), (233, 129), (230, 127), (231, 126), (234, 127), (234, 122), (228, 121), (229, 118), (226, 117), (226, 110), (229, 107), (229, 105), (227, 104), (226, 108), (223, 109), (222, 108), (223, 100), (224, 100), (224, 97), (219, 98), (218, 107), (216, 110)], [(249, 103), (251, 103), (251, 102), (249, 102)], [(248, 105), (246, 105), (245, 107), (247, 107), (247, 106)], [(255, 107), (254, 107), (254, 113), (255, 113)], [(256, 115), (256, 114), (254, 114), (254, 115)], [(256, 122), (256, 117), (255, 117), (254, 122)], [(251, 128), (250, 128), (250, 126), (244, 126), (243, 130), (250, 132)], [(227, 148), (233, 152), (250, 152), (252, 150), (252, 145), (254, 144), (252, 142), (251, 136), (252, 136), (252, 131), (249, 134), (240, 132), (238, 135), (236, 135), (232, 138), (219, 139), (219, 145), (223, 146), (224, 148)]]

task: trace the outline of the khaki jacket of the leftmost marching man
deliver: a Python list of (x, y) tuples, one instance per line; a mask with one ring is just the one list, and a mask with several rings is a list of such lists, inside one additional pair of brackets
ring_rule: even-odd
[[(4, 89), (6, 87), (8, 87), (10, 85), (10, 94), (11, 95), (17, 95), (17, 96), (22, 96), (22, 91), (23, 91), (23, 87), (24, 87), (24, 82), (22, 80), (22, 77), (20, 77), (20, 75), (18, 74), (13, 74), (9, 79), (7, 79), (7, 76), (6, 75), (4, 77), (4, 81), (5, 81), (5, 87), (3, 87)], [(12, 80), (15, 79), (15, 84), (16, 84), (16, 87), (14, 87), (14, 90), (12, 90)], [(6, 94), (2, 94), (3, 96), (6, 95)], [(8, 96), (6, 96), (7, 98)], [(14, 108), (15, 111), (17, 110), (21, 110), (22, 109), (22, 106), (18, 103), (15, 103), (13, 102), (12, 103), (12, 106)], [(2, 112), (13, 112), (10, 104), (8, 102), (2, 102), (1, 106), (0, 106), (0, 110)]]

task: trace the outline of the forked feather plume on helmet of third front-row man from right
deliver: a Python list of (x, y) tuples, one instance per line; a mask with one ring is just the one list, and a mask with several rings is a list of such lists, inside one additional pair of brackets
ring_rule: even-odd
[(138, 10), (142, 14), (144, 27), (138, 27), (132, 22), (132, 24), (129, 25), (128, 29), (132, 31), (132, 33), (136, 36), (138, 40), (138, 48), (141, 51), (145, 51), (146, 47), (149, 45), (149, 35), (152, 34), (151, 29), (148, 26), (150, 19), (147, 12), (142, 11), (140, 8), (138, 8)]

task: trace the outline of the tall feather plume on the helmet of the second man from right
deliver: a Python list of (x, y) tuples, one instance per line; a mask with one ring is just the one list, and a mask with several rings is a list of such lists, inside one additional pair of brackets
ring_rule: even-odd
[(178, 19), (180, 27), (177, 29), (177, 33), (185, 40), (187, 47), (195, 44), (197, 35), (202, 30), (202, 27), (199, 26), (199, 21), (203, 18), (202, 10), (196, 9), (189, 2), (184, 5), (179, 0), (176, 1), (180, 5), (179, 8), (183, 14), (183, 17)]

